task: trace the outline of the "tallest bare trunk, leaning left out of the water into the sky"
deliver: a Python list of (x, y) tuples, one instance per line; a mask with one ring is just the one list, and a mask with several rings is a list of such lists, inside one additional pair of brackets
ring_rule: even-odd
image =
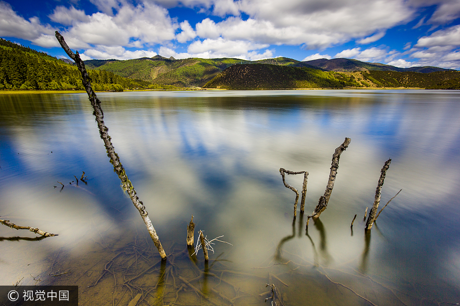
[[(103, 120), (104, 113), (102, 112), (101, 102), (96, 96), (96, 93), (93, 91), (93, 88), (91, 88), (90, 78), (89, 78), (88, 72), (86, 71), (85, 63), (80, 59), (80, 55), (78, 54), (78, 51), (75, 54), (72, 52), (72, 50), (67, 46), (66, 42), (64, 41), (64, 38), (61, 36), (61, 34), (59, 34), (58, 31), (56, 31), (56, 38), (59, 41), (61, 47), (64, 49), (65, 53), (67, 53), (67, 55), (75, 61), (75, 63), (77, 64), (78, 70), (80, 70), (81, 72), (83, 86), (85, 87), (86, 93), (88, 94), (89, 100), (91, 101), (91, 106), (93, 106), (93, 109), (94, 109), (93, 114), (95, 115), (96, 122), (98, 123), (99, 134), (101, 136), (101, 139), (104, 141), (104, 145), (107, 150), (107, 156), (110, 158), (110, 163), (113, 165), (113, 170), (117, 173), (118, 177), (120, 178), (120, 181), (122, 183), (121, 187), (123, 188), (124, 191), (128, 193), (134, 207), (141, 214), (141, 217), (144, 220), (145, 225), (147, 226), (147, 230), (149, 231), (150, 237), (152, 238), (153, 243), (158, 249), (160, 256), (162, 257), (163, 260), (165, 260), (166, 259), (165, 250), (163, 249), (163, 246), (159, 241), (158, 235), (156, 234), (155, 228), (153, 227), (152, 222), (150, 221), (150, 218), (145, 209), (144, 203), (139, 200), (139, 197), (136, 196), (136, 191), (134, 190), (134, 187), (132, 186), (131, 181), (129, 181), (128, 176), (126, 175), (125, 169), (123, 168), (123, 165), (121, 164), (120, 158), (118, 154), (115, 152), (115, 149), (110, 141), (111, 138), (108, 135), (108, 128), (107, 126), (105, 126), (104, 120)], [(85, 173), (83, 172), (80, 180), (84, 179), (83, 177), (84, 174)]]

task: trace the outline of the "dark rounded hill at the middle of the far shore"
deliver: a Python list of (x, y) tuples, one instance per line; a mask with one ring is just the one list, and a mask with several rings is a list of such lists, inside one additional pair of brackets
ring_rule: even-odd
[(289, 89), (359, 87), (346, 74), (270, 64), (236, 64), (225, 69), (206, 88), (225, 89)]

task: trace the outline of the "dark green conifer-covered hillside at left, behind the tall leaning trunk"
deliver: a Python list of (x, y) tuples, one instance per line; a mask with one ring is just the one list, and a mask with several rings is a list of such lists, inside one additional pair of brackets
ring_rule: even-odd
[[(110, 71), (89, 70), (95, 90), (122, 91), (148, 86)], [(0, 38), (0, 89), (83, 90), (77, 67), (45, 53)]]

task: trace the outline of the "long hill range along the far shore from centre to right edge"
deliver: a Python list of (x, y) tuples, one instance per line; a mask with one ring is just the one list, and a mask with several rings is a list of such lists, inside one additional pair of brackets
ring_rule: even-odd
[(271, 64), (236, 64), (226, 68), (205, 88), (290, 89), (290, 88), (430, 88), (460, 87), (460, 71), (421, 73), (415, 71), (321, 71), (308, 67)]

